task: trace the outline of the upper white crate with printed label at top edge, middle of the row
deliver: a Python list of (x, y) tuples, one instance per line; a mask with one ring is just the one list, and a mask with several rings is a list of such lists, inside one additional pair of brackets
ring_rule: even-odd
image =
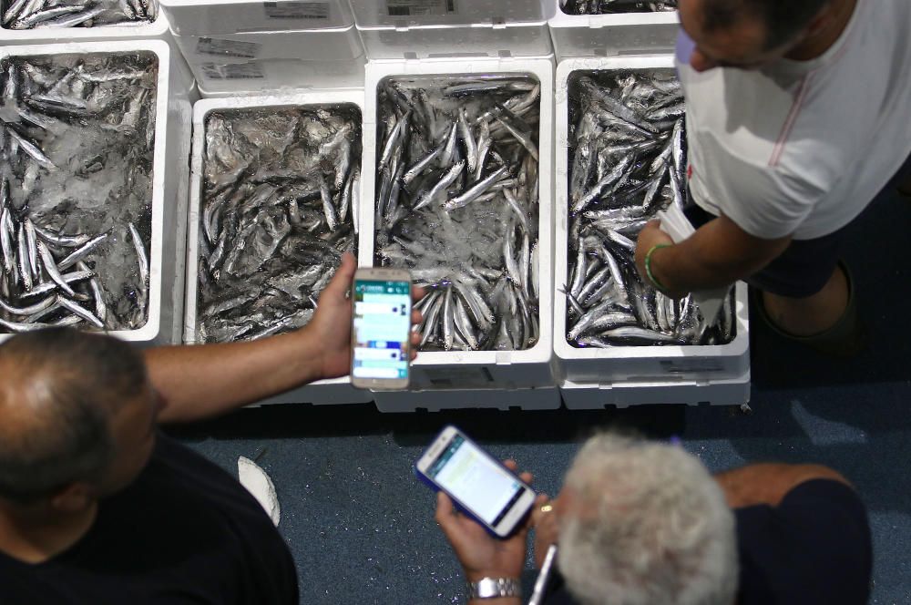
[(550, 0), (351, 0), (364, 28), (541, 23)]

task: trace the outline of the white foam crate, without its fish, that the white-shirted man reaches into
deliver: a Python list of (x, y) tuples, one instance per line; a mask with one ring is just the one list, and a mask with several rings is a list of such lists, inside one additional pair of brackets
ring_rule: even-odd
[[(567, 81), (576, 71), (609, 71), (612, 69), (672, 68), (673, 57), (626, 56), (568, 59), (557, 67), (557, 144), (554, 240), (554, 282), (558, 287), (568, 282), (568, 97)], [(615, 384), (619, 381), (716, 380), (742, 376), (750, 369), (750, 335), (747, 309), (747, 287), (738, 282), (735, 288), (734, 326), (736, 335), (730, 344), (711, 346), (616, 346), (606, 349), (579, 349), (568, 344), (567, 302), (565, 296), (554, 300), (554, 352), (558, 374), (574, 382)]]

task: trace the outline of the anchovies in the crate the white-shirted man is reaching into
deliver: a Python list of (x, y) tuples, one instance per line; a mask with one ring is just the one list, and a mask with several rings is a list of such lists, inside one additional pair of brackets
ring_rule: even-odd
[(669, 70), (577, 72), (569, 100), (568, 343), (730, 342), (731, 296), (706, 322), (690, 296), (643, 283), (634, 261), (645, 223), (686, 205), (680, 83)]

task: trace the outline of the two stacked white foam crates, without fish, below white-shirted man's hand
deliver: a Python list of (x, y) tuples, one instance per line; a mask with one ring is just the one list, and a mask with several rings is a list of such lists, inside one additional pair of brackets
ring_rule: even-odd
[[(605, 32), (609, 35), (609, 30)], [(568, 80), (577, 72), (672, 69), (669, 54), (571, 58), (557, 68), (555, 283), (568, 283)], [(570, 409), (605, 405), (744, 404), (750, 399), (747, 288), (734, 288), (729, 344), (577, 348), (568, 343), (566, 297), (554, 302), (554, 351), (560, 392)]]

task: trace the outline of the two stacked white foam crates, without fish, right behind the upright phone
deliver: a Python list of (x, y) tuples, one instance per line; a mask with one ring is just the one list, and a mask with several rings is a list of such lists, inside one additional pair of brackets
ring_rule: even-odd
[[(504, 3), (505, 4), (505, 3)], [(511, 3), (510, 3), (511, 4)], [(560, 405), (551, 357), (553, 214), (553, 70), (550, 56), (497, 57), (470, 60), (400, 59), (370, 61), (367, 65), (364, 103), (363, 204), (359, 264), (374, 264), (374, 204), (377, 161), (377, 94), (385, 77), (521, 74), (541, 87), (538, 139), (540, 214), (538, 225), (540, 339), (524, 351), (435, 351), (418, 354), (412, 364), (407, 391), (377, 391), (374, 401), (381, 412), (439, 411), (452, 408), (555, 409)]]

